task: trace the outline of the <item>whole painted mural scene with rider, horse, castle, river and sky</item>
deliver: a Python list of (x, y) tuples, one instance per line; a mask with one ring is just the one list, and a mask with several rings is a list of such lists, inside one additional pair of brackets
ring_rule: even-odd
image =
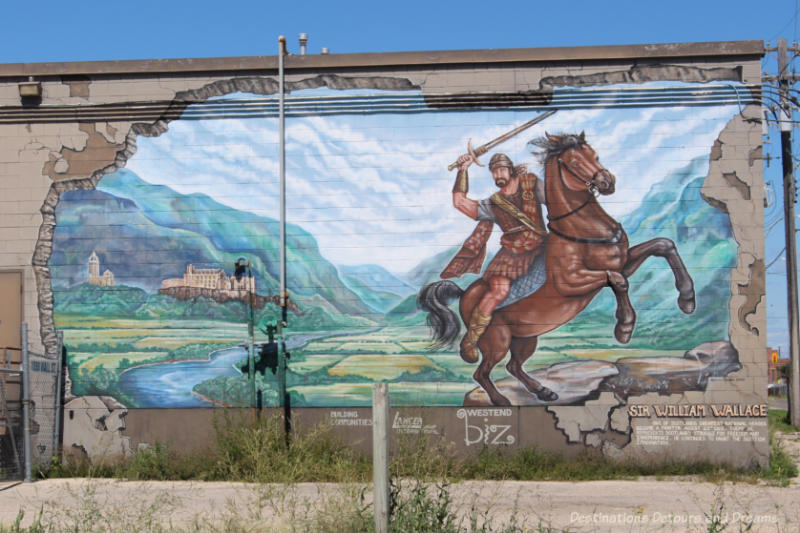
[[(582, 405), (741, 368), (737, 243), (700, 190), (738, 106), (325, 104), (381, 94), (308, 90), (334, 107), (287, 122), (293, 406), (366, 406), (377, 379), (394, 405)], [(501, 142), (476, 161), (470, 139)], [(248, 318), (279, 316), (276, 140), (274, 117), (178, 120), (62, 193), (49, 267), (74, 395), (248, 404)], [(257, 387), (277, 403), (275, 376)]]

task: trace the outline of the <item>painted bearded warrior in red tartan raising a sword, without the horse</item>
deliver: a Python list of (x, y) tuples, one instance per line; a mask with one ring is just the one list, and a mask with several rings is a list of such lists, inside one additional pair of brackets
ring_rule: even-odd
[(494, 224), (503, 230), (501, 249), (483, 273), (488, 289), (472, 311), (467, 333), (461, 340), (461, 357), (468, 363), (478, 361), (478, 340), (492, 320), (492, 313), (505, 300), (511, 282), (524, 275), (534, 260), (544, 252), (547, 232), (542, 228), (544, 184), (525, 166), (515, 167), (511, 159), (496, 153), (489, 170), (500, 190), (491, 197), (476, 201), (467, 197), (467, 169), (474, 162), (470, 154), (457, 160), (458, 174), (453, 186), (453, 206), (478, 221), (461, 250), (441, 274), (444, 279), (466, 272), (480, 273), (486, 257), (486, 241)]

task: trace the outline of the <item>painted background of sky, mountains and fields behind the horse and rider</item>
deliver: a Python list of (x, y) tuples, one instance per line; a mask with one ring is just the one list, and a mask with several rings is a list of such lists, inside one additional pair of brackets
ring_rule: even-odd
[[(392, 382), (398, 405), (463, 404), (475, 389), (475, 366), (457, 348), (429, 350), (430, 332), (414, 304), (475, 224), (453, 208), (455, 172), (446, 168), (468, 140), (482, 144), (540, 112), (287, 120), (289, 289), (304, 312), (290, 315), (293, 405), (368, 405), (375, 379)], [(625, 225), (631, 244), (675, 240), (698, 295), (698, 311), (683, 315), (672, 272), (651, 259), (631, 280), (639, 322), (630, 345), (614, 340), (614, 300), (603, 290), (573, 322), (542, 337), (528, 370), (567, 364), (558, 368), (575, 376), (583, 371), (569, 365), (592, 360), (595, 370), (608, 372), (621, 358), (683, 357), (707, 341), (727, 340), (727, 269), (735, 264), (736, 243), (727, 216), (702, 200), (699, 187), (711, 146), (737, 112), (737, 106), (562, 109), (492, 151), (541, 175), (527, 142), (545, 131), (584, 131), (617, 178), (616, 193), (600, 198), (604, 208)], [(238, 370), (246, 357), (239, 346), (247, 335), (245, 303), (180, 299), (159, 288), (180, 280), (188, 264), (221, 269), (224, 279), (214, 274), (220, 283), (233, 284), (232, 263), (247, 256), (259, 295), (276, 294), (277, 127), (275, 118), (173, 121), (159, 137), (139, 137), (126, 167), (105, 176), (96, 191), (62, 195), (50, 266), (56, 323), (65, 331), (79, 395), (113, 396), (128, 407), (246, 404), (246, 376)], [(470, 197), (495, 192), (488, 169), (473, 166), (470, 174)], [(498, 241), (495, 232), (490, 254)], [(115, 285), (86, 283), (95, 251), (98, 273), (110, 269)], [(276, 308), (259, 304), (256, 320), (274, 319)], [(711, 350), (730, 362), (717, 365), (726, 372), (738, 368), (729, 348)], [(493, 379), (506, 378), (504, 372), (498, 367)], [(258, 377), (265, 391), (275, 392), (274, 381), (269, 373)], [(267, 405), (272, 396), (265, 396)]]

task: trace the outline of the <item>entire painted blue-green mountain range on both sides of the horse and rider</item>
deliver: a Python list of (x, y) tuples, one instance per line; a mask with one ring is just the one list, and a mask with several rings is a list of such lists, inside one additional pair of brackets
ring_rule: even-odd
[[(736, 264), (736, 242), (728, 216), (700, 195), (707, 168), (706, 156), (665, 176), (620, 219), (632, 245), (658, 236), (675, 241), (697, 291), (697, 311), (687, 317), (674, 303), (677, 294), (666, 262), (648, 260), (631, 278), (631, 300), (639, 313), (634, 343), (637, 338), (652, 343), (654, 335), (667, 343), (727, 338), (729, 268)], [(97, 190), (65, 192), (56, 216), (50, 259), (56, 291), (86, 281), (92, 251), (100, 259), (101, 273), (109, 269), (119, 284), (150, 294), (162, 280), (181, 277), (188, 264), (222, 268), (230, 275), (239, 257), (251, 262), (259, 293), (279, 290), (278, 221), (203, 194), (180, 194), (121, 169), (105, 176)], [(422, 324), (424, 316), (414, 305), (416, 293), (438, 279), (457, 249), (422, 258), (409, 272), (396, 275), (379, 265), (334, 265), (322, 256), (313, 235), (288, 224), (287, 285), (308, 313), (309, 324), (322, 323), (328, 315), (337, 315), (337, 323), (357, 317), (364, 324)], [(476, 277), (457, 281), (464, 287)], [(71, 311), (78, 310), (75, 298), (62, 300), (69, 302)], [(587, 326), (613, 327), (615, 306), (610, 291), (603, 291), (561, 330), (580, 335)]]

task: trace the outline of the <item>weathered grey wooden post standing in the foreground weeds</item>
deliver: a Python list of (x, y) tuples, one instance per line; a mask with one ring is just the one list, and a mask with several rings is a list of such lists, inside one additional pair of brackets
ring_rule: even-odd
[(389, 532), (389, 388), (372, 384), (372, 471), (375, 533)]

